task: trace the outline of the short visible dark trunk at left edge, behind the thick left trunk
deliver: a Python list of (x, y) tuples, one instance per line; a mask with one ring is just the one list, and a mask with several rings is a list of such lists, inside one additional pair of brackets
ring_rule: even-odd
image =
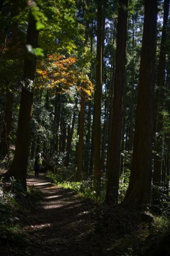
[(9, 154), (10, 138), (11, 133), (11, 122), (12, 122), (12, 105), (13, 105), (13, 93), (6, 90), (6, 105), (5, 105), (5, 116), (3, 120), (3, 131), (0, 138), (0, 159), (3, 159), (6, 154)]

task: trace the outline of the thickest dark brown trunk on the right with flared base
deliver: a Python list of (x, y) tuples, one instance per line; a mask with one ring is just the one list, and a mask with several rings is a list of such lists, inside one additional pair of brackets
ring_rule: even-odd
[(157, 1), (144, 1), (144, 29), (139, 71), (139, 96), (130, 182), (122, 204), (146, 209), (152, 177), (152, 130), (156, 63)]

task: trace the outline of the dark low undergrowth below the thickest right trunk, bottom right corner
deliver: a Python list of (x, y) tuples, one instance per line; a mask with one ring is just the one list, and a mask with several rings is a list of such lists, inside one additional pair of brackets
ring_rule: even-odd
[(147, 222), (140, 213), (135, 208), (121, 205), (98, 205), (94, 237), (102, 240), (113, 255), (148, 255), (145, 252), (170, 229), (170, 218), (154, 216), (153, 222)]

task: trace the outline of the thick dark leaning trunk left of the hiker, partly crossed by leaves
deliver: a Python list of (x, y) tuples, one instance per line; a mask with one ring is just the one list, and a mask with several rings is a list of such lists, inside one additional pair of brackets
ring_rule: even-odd
[[(26, 45), (30, 44), (33, 48), (37, 47), (38, 32), (36, 29), (36, 20), (29, 14)], [(30, 86), (34, 82), (36, 65), (36, 56), (26, 51), (24, 61), (23, 79), (25, 85), (22, 87), (20, 99), (20, 111), (17, 128), (17, 142), (14, 153), (14, 160), (11, 165), (10, 174), (20, 180), (26, 190), (26, 172), (28, 163), (28, 148), (31, 130), (31, 116), (33, 91)]]

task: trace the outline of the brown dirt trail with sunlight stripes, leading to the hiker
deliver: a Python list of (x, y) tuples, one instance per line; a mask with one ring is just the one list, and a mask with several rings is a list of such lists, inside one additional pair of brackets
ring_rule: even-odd
[(29, 175), (27, 183), (42, 191), (42, 204), (31, 209), (24, 227), (31, 245), (20, 255), (100, 255), (99, 244), (94, 246), (89, 235), (94, 208), (91, 201), (82, 200), (71, 190), (52, 186), (42, 174), (39, 178)]

